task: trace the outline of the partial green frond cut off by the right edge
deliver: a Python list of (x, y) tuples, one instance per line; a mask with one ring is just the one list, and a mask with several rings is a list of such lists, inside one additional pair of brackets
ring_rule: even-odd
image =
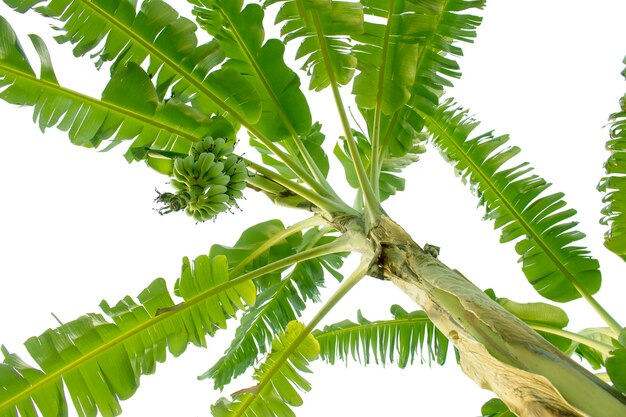
[[(622, 74), (626, 77), (626, 69)], [(609, 230), (604, 235), (604, 245), (626, 260), (626, 95), (620, 100), (620, 111), (609, 120), (610, 139), (606, 148), (611, 155), (604, 164), (608, 176), (598, 185), (600, 191), (606, 192), (602, 224), (608, 225)]]

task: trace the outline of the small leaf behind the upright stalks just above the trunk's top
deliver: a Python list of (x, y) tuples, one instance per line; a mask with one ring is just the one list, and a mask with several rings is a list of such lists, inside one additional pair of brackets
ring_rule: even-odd
[[(370, 168), (372, 163), (372, 161), (370, 160), (372, 150), (370, 141), (367, 140), (365, 135), (356, 130), (354, 130), (352, 134), (356, 139), (357, 147), (359, 149), (359, 153), (361, 154), (363, 164), (365, 165), (365, 168), (368, 169)], [(426, 137), (424, 135), (414, 132), (413, 146), (407, 152), (405, 152), (402, 156), (394, 157), (388, 155), (387, 157), (383, 158), (380, 173), (378, 176), (378, 190), (380, 195), (380, 201), (384, 201), (390, 196), (394, 195), (396, 192), (404, 190), (405, 180), (397, 174), (402, 172), (404, 168), (419, 159), (419, 154), (425, 151), (425, 139)], [(358, 190), (359, 181), (356, 176), (356, 172), (352, 164), (352, 160), (350, 158), (348, 147), (345, 141), (343, 143), (337, 143), (335, 145), (334, 154), (343, 166), (348, 184)]]

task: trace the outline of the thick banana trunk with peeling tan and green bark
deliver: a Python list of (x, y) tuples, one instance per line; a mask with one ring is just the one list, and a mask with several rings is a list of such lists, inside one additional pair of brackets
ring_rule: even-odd
[(459, 350), (465, 374), (518, 416), (626, 416), (621, 393), (422, 250), (391, 219), (383, 217), (370, 236), (380, 248), (371, 274), (419, 304)]

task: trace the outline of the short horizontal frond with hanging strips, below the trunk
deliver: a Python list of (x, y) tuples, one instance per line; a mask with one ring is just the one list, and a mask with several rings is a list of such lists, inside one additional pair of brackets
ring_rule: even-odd
[(313, 335), (320, 344), (323, 360), (334, 364), (348, 362), (349, 358), (368, 365), (397, 362), (400, 368), (412, 364), (417, 357), (424, 362), (424, 348), (428, 363), (443, 365), (448, 354), (448, 339), (423, 311), (407, 312), (402, 307), (391, 307), (392, 320), (369, 321), (358, 313), (357, 322), (344, 320)]

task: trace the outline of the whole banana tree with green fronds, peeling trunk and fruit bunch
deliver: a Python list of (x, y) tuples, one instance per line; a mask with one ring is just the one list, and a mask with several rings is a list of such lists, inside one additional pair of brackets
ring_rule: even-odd
[[(626, 415), (626, 333), (594, 297), (599, 264), (581, 246), (576, 211), (508, 136), (446, 95), (484, 1), (190, 0), (193, 20), (162, 0), (4, 3), (52, 19), (56, 41), (107, 82), (99, 98), (60, 83), (44, 40), (30, 35), (25, 52), (3, 16), (0, 97), (32, 107), (42, 130), (56, 127), (74, 145), (145, 163), (164, 178), (153, 196), (163, 219), (186, 213), (207, 233), (227, 224), (219, 235), (229, 242), (184, 258), (173, 282), (157, 278), (136, 297), (102, 301), (101, 312), (28, 338), (30, 360), (3, 346), (0, 416), (118, 415), (157, 363), (210, 346), (229, 323), (229, 345), (201, 371), (233, 392), (211, 406), (216, 416), (294, 415), (316, 360), (406, 367), (454, 362), (452, 350), (498, 397), (484, 416)], [(320, 96), (340, 129), (328, 138), (310, 105)], [(622, 102), (611, 115), (599, 186), (605, 245), (622, 258), (624, 111)], [(419, 231), (394, 220), (387, 202), (427, 148), (469, 183), (500, 241), (514, 243), (530, 287), (551, 303), (478, 288), (480, 277), (447, 266), (435, 244), (417, 244)], [(243, 198), (297, 214), (246, 224), (232, 239), (233, 222), (247, 217)], [(174, 242), (164, 243), (171, 253)], [(367, 280), (396, 287), (414, 311), (390, 305), (377, 320), (355, 311), (321, 324)], [(334, 281), (333, 293), (322, 291)], [(554, 303), (578, 299), (600, 327), (565, 329)], [(253, 381), (242, 383), (244, 374)]]

